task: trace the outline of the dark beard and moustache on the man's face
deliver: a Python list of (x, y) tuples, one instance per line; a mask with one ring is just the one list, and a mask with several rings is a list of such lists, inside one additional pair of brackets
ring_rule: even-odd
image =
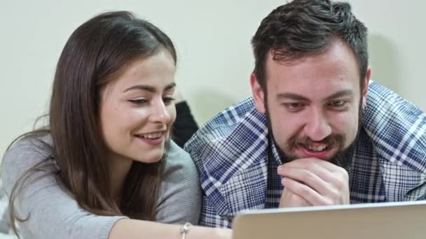
[[(269, 108), (268, 108), (267, 101), (265, 101), (264, 104), (266, 106), (265, 116), (266, 116), (266, 119), (267, 119), (268, 132), (270, 132), (270, 136), (273, 140), (273, 143), (275, 144), (275, 146), (277, 148), (277, 152), (280, 155), (280, 159), (281, 159), (282, 164), (288, 163), (288, 162), (293, 161), (295, 159), (299, 159), (300, 157), (296, 157), (295, 155), (286, 154), (284, 152), (284, 150), (282, 149), (282, 147), (277, 144), (277, 141), (275, 140), (274, 132), (272, 130), (272, 124), (270, 122)], [(340, 166), (342, 168), (345, 168), (346, 170), (348, 169), (350, 159), (352, 159), (355, 146), (357, 145), (357, 142), (358, 142), (359, 131), (361, 129), (361, 124), (362, 124), (363, 111), (364, 111), (364, 109), (362, 108), (362, 98), (361, 98), (361, 101), (359, 101), (359, 109), (358, 109), (358, 129), (357, 129), (357, 133), (356, 133), (355, 139), (352, 141), (352, 143), (350, 143), (350, 145), (348, 145), (348, 147), (345, 147), (346, 137), (342, 133), (331, 134), (331, 135), (327, 136), (326, 138), (324, 138), (323, 140), (321, 140), (321, 143), (327, 144), (327, 147), (331, 147), (331, 148), (337, 147), (338, 148), (338, 151), (336, 152), (336, 154), (334, 154), (334, 156), (331, 157), (331, 159), (329, 159), (329, 161), (332, 164), (335, 164), (336, 166)], [(292, 136), (289, 139), (286, 146), (287, 146), (287, 149), (289, 149), (289, 151), (291, 151), (292, 149), (296, 148), (298, 145), (310, 145), (313, 142), (315, 142), (315, 141), (312, 140), (311, 138), (309, 138), (308, 136), (301, 136), (301, 137), (300, 136)]]

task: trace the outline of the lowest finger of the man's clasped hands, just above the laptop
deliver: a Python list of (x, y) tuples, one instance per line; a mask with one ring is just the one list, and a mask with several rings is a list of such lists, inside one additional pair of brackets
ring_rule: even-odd
[(291, 191), (294, 194), (297, 194), (301, 198), (308, 201), (311, 205), (331, 205), (326, 198), (317, 193), (314, 189), (311, 189), (307, 185), (297, 182), (296, 180), (292, 180), (291, 178), (283, 178), (282, 184), (284, 187)]

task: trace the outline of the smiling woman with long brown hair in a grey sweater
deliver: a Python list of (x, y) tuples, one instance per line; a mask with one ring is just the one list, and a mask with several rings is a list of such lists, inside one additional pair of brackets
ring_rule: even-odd
[(128, 12), (74, 31), (48, 126), (1, 163), (23, 238), (231, 238), (189, 224), (198, 222), (200, 187), (188, 154), (169, 140), (176, 62), (172, 41)]

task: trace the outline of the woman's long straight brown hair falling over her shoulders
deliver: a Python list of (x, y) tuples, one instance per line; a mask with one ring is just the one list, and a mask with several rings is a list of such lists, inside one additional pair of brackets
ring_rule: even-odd
[[(69, 190), (81, 208), (97, 215), (127, 215), (153, 220), (164, 160), (154, 164), (134, 162), (117, 204), (111, 194), (107, 146), (99, 127), (102, 89), (134, 59), (150, 57), (160, 50), (177, 62), (174, 45), (163, 31), (132, 13), (102, 13), (83, 23), (69, 37), (57, 63), (50, 99), (48, 129), (25, 133), (36, 139), (49, 133), (52, 155), (43, 162), (57, 166), (57, 181)], [(166, 147), (167, 148), (167, 147)], [(43, 163), (42, 162), (42, 163)], [(13, 201), (25, 178), (13, 187), (11, 220), (25, 221), (15, 214)], [(29, 217), (29, 215), (28, 215)], [(27, 217), (27, 219), (28, 219)]]

